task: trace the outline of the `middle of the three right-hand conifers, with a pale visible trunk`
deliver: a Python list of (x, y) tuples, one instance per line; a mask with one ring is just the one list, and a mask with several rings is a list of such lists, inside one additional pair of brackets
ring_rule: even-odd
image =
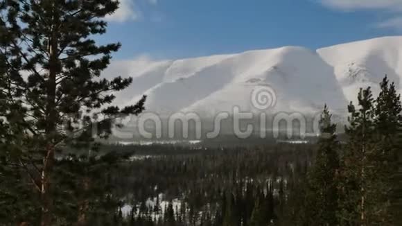
[(359, 110), (351, 103), (349, 126), (345, 131), (349, 142), (342, 159), (342, 185), (340, 200), (341, 225), (367, 225), (367, 185), (368, 154), (373, 130), (374, 98), (369, 88), (360, 89), (358, 94)]

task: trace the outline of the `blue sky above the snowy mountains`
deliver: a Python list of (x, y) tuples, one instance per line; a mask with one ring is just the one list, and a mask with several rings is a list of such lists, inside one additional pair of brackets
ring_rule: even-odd
[(177, 59), (402, 35), (402, 0), (120, 0), (100, 42), (114, 55)]

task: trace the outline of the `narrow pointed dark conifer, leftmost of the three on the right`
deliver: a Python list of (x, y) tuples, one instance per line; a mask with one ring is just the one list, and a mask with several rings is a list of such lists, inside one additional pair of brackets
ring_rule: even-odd
[(331, 114), (326, 105), (320, 119), (320, 140), (317, 157), (308, 172), (306, 212), (308, 225), (338, 225), (339, 141), (336, 124), (331, 123)]

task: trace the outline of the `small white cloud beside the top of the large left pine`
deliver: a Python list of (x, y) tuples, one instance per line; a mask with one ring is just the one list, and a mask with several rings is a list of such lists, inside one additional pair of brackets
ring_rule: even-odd
[(137, 9), (134, 0), (119, 0), (119, 9), (112, 15), (107, 15), (107, 21), (124, 22), (139, 19), (141, 13)]

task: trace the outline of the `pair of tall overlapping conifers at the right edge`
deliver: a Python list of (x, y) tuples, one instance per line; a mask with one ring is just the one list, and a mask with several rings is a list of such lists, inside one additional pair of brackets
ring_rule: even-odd
[[(401, 102), (387, 77), (376, 101), (370, 88), (358, 94), (358, 110), (349, 105), (349, 141), (344, 146), (340, 170), (341, 225), (394, 225), (395, 180), (398, 175), (397, 134), (401, 127)], [(395, 203), (393, 206), (391, 203)]]

